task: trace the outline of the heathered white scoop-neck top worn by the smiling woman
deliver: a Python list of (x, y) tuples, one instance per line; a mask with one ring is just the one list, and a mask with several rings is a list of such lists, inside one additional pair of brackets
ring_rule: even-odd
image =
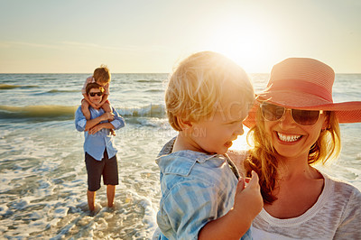
[(361, 239), (361, 192), (350, 183), (320, 173), (325, 185), (312, 208), (287, 219), (272, 217), (263, 208), (253, 222), (253, 238)]

